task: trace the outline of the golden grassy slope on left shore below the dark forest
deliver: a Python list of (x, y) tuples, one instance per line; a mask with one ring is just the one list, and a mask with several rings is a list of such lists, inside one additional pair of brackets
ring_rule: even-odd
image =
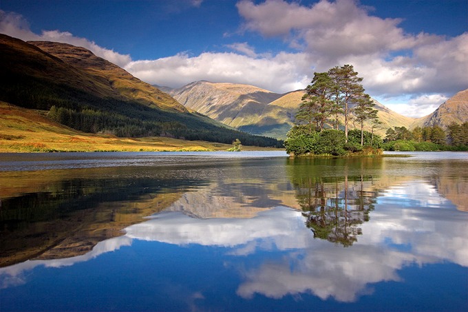
[[(86, 134), (51, 121), (46, 112), (0, 101), (0, 152), (161, 152), (224, 151), (231, 144), (175, 138), (118, 138)], [(266, 149), (243, 146), (243, 150)]]

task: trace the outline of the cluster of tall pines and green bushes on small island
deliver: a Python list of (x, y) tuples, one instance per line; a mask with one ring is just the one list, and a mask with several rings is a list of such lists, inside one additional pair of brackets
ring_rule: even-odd
[[(383, 141), (373, 133), (374, 127), (371, 132), (363, 129), (364, 121), (378, 125), (379, 118), (362, 81), (352, 65), (315, 72), (284, 142), (286, 152), (294, 156), (380, 154)], [(342, 129), (340, 116), (344, 117)], [(348, 129), (352, 120), (360, 129)], [(327, 129), (327, 124), (332, 128)]]

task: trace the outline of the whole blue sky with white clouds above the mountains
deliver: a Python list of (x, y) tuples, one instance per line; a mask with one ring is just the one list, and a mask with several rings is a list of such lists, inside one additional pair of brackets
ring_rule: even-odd
[(1, 33), (84, 46), (151, 84), (282, 93), (350, 63), (406, 116), (468, 88), (467, 0), (0, 0), (0, 10)]

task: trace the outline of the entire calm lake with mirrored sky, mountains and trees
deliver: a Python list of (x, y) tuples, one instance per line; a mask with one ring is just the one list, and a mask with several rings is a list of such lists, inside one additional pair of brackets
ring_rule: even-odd
[(464, 152), (0, 154), (0, 200), (0, 311), (468, 311)]

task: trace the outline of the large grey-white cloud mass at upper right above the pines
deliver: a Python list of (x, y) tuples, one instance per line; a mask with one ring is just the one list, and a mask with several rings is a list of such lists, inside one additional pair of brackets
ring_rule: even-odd
[[(245, 31), (282, 37), (292, 48), (308, 54), (316, 71), (354, 65), (371, 96), (451, 96), (468, 87), (467, 32), (454, 38), (409, 34), (399, 26), (401, 19), (372, 16), (370, 8), (349, 0), (321, 0), (312, 6), (243, 0), (237, 8)], [(425, 108), (403, 114), (423, 116), (417, 111), (425, 112)]]

